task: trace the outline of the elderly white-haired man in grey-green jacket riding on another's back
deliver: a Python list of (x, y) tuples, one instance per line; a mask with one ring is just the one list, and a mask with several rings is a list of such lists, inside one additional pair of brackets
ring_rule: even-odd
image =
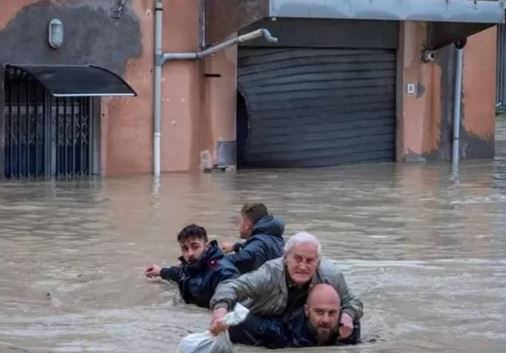
[[(275, 328), (262, 327), (261, 318), (289, 316), (304, 306), (309, 290), (319, 283), (334, 287), (341, 302), (338, 335), (341, 339), (359, 338), (359, 321), (363, 304), (346, 285), (336, 262), (322, 258), (321, 244), (315, 236), (299, 232), (285, 245), (283, 257), (266, 262), (258, 270), (226, 280), (211, 299), (213, 310), (210, 330), (219, 334), (227, 329), (223, 318), (237, 302), (245, 304), (250, 314), (246, 321), (230, 329), (235, 343), (266, 345), (275, 340)], [(262, 337), (266, 333), (270, 337)]]

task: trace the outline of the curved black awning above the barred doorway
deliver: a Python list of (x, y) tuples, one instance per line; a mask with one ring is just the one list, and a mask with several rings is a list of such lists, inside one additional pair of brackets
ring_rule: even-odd
[(54, 97), (136, 96), (120, 76), (92, 65), (9, 65), (26, 72)]

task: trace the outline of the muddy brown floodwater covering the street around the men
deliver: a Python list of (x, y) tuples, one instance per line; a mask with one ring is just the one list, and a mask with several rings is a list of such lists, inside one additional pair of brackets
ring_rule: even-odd
[(321, 239), (365, 304), (364, 344), (315, 352), (503, 353), (502, 125), (498, 138), (495, 161), (458, 175), (426, 163), (2, 182), (0, 352), (174, 352), (209, 314), (144, 267), (174, 263), (190, 222), (235, 239), (242, 203), (264, 201), (287, 235)]

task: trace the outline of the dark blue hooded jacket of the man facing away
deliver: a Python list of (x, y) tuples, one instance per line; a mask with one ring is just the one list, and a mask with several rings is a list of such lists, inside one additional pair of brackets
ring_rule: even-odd
[(266, 261), (283, 255), (285, 223), (273, 216), (265, 216), (253, 227), (250, 237), (244, 243), (234, 245), (235, 254), (227, 259), (241, 274), (251, 272)]

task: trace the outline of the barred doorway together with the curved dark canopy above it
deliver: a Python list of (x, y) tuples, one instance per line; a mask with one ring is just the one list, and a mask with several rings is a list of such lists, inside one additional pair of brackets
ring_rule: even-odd
[(135, 95), (121, 77), (97, 66), (7, 65), (5, 177), (99, 173), (100, 104), (94, 97)]

